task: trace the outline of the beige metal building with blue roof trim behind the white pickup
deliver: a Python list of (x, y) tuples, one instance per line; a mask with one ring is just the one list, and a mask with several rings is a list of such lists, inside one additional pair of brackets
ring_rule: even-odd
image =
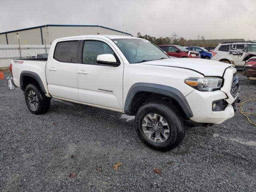
[(42, 25), (20, 30), (13, 30), (0, 33), (0, 44), (10, 45), (49, 45), (61, 37), (77, 35), (126, 35), (132, 34), (111, 29), (100, 25)]

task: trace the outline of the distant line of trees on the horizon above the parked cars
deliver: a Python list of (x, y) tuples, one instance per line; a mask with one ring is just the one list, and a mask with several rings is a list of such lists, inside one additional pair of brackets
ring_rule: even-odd
[(142, 35), (140, 32), (137, 33), (138, 38), (149, 40), (156, 45), (181, 45), (181, 46), (198, 46), (198, 47), (211, 47), (217, 46), (222, 42), (234, 42), (234, 41), (245, 41), (244, 39), (205, 39), (204, 36), (198, 35), (196, 40), (184, 39), (179, 37), (176, 32), (173, 32), (170, 37), (153, 37), (149, 35)]

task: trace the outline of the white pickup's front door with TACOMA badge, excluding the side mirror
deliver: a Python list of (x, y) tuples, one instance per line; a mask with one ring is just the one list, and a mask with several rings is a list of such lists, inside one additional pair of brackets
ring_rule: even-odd
[[(124, 63), (114, 47), (103, 39), (84, 38), (82, 61), (77, 66), (78, 99), (84, 104), (112, 110), (123, 109)], [(97, 56), (113, 54), (119, 66), (102, 65)]]

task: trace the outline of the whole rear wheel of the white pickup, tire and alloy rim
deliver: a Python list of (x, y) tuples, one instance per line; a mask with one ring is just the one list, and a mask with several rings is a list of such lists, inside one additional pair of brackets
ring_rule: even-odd
[(51, 104), (50, 98), (46, 97), (42, 90), (34, 84), (29, 84), (25, 89), (25, 101), (28, 109), (33, 114), (46, 113)]

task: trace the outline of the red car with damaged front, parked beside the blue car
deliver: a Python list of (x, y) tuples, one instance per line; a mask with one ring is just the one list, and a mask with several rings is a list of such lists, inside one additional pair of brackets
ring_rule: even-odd
[(180, 45), (158, 45), (160, 49), (166, 52), (168, 56), (182, 58), (200, 58), (200, 53), (189, 51)]

